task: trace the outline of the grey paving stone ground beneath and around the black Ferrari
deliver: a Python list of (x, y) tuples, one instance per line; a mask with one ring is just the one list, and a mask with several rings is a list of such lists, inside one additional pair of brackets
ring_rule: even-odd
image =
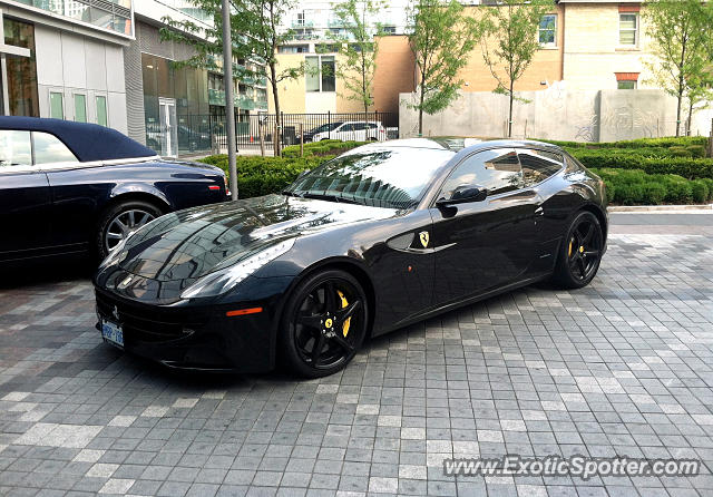
[[(6, 286), (0, 495), (711, 496), (713, 216), (613, 216), (589, 288), (451, 312), (319, 381), (166, 371), (101, 342), (88, 279)], [(445, 458), (505, 454), (704, 466), (443, 475)]]

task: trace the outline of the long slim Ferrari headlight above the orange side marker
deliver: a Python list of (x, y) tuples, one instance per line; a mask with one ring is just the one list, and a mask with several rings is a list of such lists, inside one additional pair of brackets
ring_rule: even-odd
[(235, 265), (206, 274), (184, 290), (180, 298), (193, 299), (194, 296), (215, 296), (225, 293), (270, 261), (280, 257), (293, 245), (294, 238), (290, 238), (260, 251)]

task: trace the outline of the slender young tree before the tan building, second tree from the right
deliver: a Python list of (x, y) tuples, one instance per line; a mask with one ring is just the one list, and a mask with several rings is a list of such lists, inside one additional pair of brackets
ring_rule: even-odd
[(500, 0), (497, 6), (484, 7), (482, 58), (498, 84), (494, 91), (509, 99), (508, 137), (512, 136), (515, 82), (540, 47), (537, 28), (553, 6), (551, 0)]

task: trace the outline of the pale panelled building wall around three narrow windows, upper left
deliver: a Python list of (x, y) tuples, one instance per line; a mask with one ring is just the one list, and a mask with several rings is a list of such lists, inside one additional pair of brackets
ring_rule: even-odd
[(35, 26), (40, 116), (50, 91), (64, 94), (65, 119), (75, 119), (75, 95), (86, 96), (87, 121), (97, 121), (96, 97), (107, 99), (108, 124), (127, 133), (123, 46), (47, 26)]

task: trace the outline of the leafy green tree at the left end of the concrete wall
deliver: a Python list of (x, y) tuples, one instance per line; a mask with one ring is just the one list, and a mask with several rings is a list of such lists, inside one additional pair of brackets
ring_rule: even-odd
[(413, 108), (419, 110), (421, 135), (423, 113), (442, 110), (458, 97), (458, 71), (468, 64), (480, 29), (456, 0), (417, 0), (412, 18), (409, 45), (419, 70), (419, 101)]

